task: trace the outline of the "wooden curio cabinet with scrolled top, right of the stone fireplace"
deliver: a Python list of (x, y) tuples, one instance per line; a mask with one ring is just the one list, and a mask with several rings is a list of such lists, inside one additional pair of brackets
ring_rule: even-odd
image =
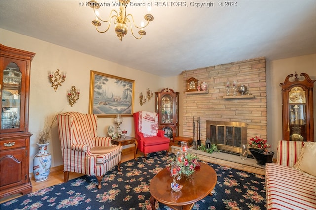
[[(294, 79), (290, 78), (295, 76)], [(314, 141), (313, 86), (316, 80), (295, 72), (282, 87), (283, 140)]]

